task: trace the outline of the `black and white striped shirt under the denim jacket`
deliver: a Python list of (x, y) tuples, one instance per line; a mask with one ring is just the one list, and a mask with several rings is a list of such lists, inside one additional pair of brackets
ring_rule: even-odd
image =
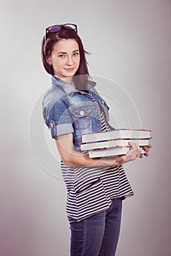
[[(102, 106), (102, 131), (110, 130)], [(110, 207), (111, 199), (130, 197), (132, 187), (123, 170), (116, 167), (69, 167), (61, 159), (61, 171), (67, 190), (66, 214), (77, 221)]]

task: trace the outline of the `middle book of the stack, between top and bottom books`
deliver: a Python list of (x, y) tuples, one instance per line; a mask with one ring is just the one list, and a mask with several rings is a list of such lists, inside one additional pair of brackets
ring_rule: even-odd
[(121, 146), (129, 146), (129, 141), (132, 143), (136, 143), (138, 146), (148, 146), (149, 139), (117, 139), (117, 140), (104, 140), (97, 142), (89, 142), (81, 144), (81, 151), (84, 150), (92, 150), (97, 148), (113, 148), (113, 147), (121, 147)]

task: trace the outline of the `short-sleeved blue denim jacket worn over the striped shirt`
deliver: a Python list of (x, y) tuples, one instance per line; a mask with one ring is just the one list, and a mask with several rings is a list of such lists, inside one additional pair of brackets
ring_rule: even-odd
[(52, 76), (52, 86), (42, 102), (42, 113), (52, 138), (73, 132), (75, 149), (80, 150), (83, 133), (102, 131), (102, 105), (107, 121), (107, 103), (95, 89), (96, 83), (89, 81), (89, 93), (77, 91), (72, 85)]

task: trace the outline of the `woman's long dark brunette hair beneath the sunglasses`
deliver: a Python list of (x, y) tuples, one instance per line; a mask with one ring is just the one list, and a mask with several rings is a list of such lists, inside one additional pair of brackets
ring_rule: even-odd
[(60, 31), (50, 34), (46, 40), (45, 37), (43, 37), (41, 55), (45, 70), (50, 75), (54, 75), (52, 65), (47, 63), (47, 57), (50, 56), (53, 50), (53, 45), (61, 39), (75, 39), (77, 42), (80, 50), (80, 66), (74, 76), (75, 87), (77, 90), (88, 90), (89, 72), (87, 67), (88, 63), (86, 61), (86, 53), (88, 54), (88, 52), (84, 50), (80, 37), (73, 29), (65, 29), (64, 27), (61, 27)]

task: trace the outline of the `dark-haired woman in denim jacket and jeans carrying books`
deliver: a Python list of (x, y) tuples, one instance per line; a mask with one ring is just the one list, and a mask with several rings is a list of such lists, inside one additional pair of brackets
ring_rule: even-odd
[[(111, 127), (107, 103), (89, 78), (86, 50), (75, 24), (46, 29), (42, 61), (52, 75), (52, 86), (42, 103), (43, 116), (61, 155), (71, 255), (115, 255), (122, 200), (133, 195), (122, 165), (142, 158), (140, 147), (130, 143), (129, 153), (117, 158), (91, 159), (80, 151), (83, 133)], [(144, 148), (145, 156), (149, 148)]]

